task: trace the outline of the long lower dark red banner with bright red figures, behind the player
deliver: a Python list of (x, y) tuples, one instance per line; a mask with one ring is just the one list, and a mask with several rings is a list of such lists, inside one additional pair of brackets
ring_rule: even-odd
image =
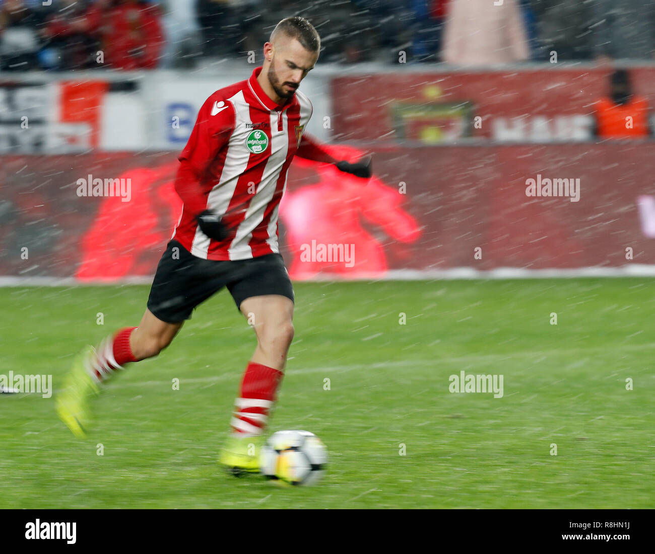
[[(335, 148), (349, 158), (364, 151)], [(367, 150), (375, 169), (367, 186), (329, 165), (297, 159), (280, 206), (282, 254), (295, 279), (655, 264), (652, 148), (648, 142), (377, 145)], [(0, 274), (81, 281), (152, 275), (178, 221), (176, 166), (168, 152), (5, 156)], [(130, 179), (129, 201), (78, 196), (78, 181), (88, 175)], [(529, 179), (542, 192), (547, 180), (579, 179), (579, 199), (526, 196)], [(557, 194), (556, 185), (551, 192)], [(320, 245), (341, 245), (354, 255), (303, 258)]]

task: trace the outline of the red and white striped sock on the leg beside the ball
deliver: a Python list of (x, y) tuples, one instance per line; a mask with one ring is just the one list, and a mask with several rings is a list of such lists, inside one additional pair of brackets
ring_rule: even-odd
[(234, 434), (263, 434), (283, 376), (280, 370), (248, 363), (230, 422)]

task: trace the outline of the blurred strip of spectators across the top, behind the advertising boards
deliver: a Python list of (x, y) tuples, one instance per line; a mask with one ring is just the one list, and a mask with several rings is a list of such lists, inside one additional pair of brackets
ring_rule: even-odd
[(309, 18), (322, 61), (337, 63), (655, 59), (655, 1), (645, 0), (0, 0), (0, 70), (261, 56), (290, 15)]

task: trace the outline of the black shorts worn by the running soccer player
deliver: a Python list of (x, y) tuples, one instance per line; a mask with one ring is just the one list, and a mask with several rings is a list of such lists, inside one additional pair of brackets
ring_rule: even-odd
[[(178, 249), (176, 252), (173, 249)], [(178, 255), (174, 255), (178, 254)], [(171, 240), (159, 260), (148, 309), (166, 323), (191, 318), (193, 309), (227, 286), (237, 309), (251, 296), (280, 294), (293, 302), (293, 286), (280, 254), (247, 260), (204, 260)]]

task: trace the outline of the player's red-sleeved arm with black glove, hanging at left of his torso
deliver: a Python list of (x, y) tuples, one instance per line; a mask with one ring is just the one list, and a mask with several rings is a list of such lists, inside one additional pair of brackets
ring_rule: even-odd
[(200, 184), (234, 129), (234, 107), (229, 102), (216, 102), (208, 99), (198, 112), (187, 146), (179, 156), (175, 190), (185, 209), (196, 216), (200, 230), (212, 239), (223, 240), (227, 230), (221, 224), (221, 216), (207, 208), (210, 191), (204, 190)]

